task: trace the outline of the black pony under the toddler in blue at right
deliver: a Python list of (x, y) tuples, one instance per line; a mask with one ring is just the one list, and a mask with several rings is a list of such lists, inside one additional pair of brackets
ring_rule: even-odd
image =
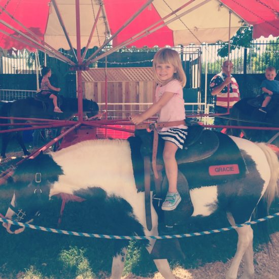
[[(251, 126), (251, 127), (279, 127), (279, 99), (272, 98), (267, 113), (259, 111), (262, 98), (243, 98), (234, 104), (230, 110), (230, 125)], [(269, 142), (278, 130), (255, 130), (255, 129), (231, 129), (231, 134), (239, 136), (243, 132), (244, 136), (252, 142)], [(274, 138), (272, 143), (279, 146), (279, 137)]]

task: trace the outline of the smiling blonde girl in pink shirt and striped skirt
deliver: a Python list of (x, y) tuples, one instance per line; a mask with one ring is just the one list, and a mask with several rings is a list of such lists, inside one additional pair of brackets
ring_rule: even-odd
[[(159, 50), (153, 59), (153, 73), (158, 86), (155, 91), (155, 102), (145, 112), (132, 115), (131, 121), (137, 125), (158, 113), (159, 122), (185, 120), (185, 108), (182, 88), (186, 84), (186, 75), (182, 68), (177, 51), (164, 48)], [(175, 210), (181, 201), (177, 190), (178, 164), (176, 152), (183, 148), (187, 138), (188, 127), (184, 124), (175, 127), (164, 127), (158, 130), (165, 141), (163, 160), (168, 179), (168, 192), (162, 204), (162, 210)]]

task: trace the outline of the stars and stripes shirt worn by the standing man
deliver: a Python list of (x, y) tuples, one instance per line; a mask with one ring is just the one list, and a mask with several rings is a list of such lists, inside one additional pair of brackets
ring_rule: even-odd
[[(224, 80), (227, 78), (227, 76), (221, 72), (214, 76), (210, 82), (210, 92), (213, 91), (214, 88), (219, 86), (224, 82)], [(240, 100), (240, 94), (239, 94), (239, 87), (238, 84), (233, 76), (231, 76), (231, 83), (230, 83), (230, 94), (228, 97), (228, 86), (226, 85), (223, 90), (214, 96), (215, 97), (215, 104), (216, 106), (220, 106), (223, 108), (229, 107), (231, 108), (236, 102)]]

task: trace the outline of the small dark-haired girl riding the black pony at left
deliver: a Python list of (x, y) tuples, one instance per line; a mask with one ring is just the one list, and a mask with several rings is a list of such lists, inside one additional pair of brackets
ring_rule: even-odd
[[(43, 67), (42, 68), (42, 76), (43, 79), (41, 81), (41, 91), (40, 94), (44, 97), (49, 97), (52, 99), (54, 104), (54, 112), (55, 113), (62, 113), (62, 111), (57, 106), (57, 93), (60, 91), (60, 88), (56, 88), (52, 86), (49, 82), (49, 78), (51, 77), (51, 68)], [(56, 92), (53, 92), (56, 91)]]

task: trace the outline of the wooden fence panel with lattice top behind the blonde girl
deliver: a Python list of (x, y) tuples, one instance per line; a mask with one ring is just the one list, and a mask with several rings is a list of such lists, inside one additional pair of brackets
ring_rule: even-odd
[(83, 94), (96, 101), (101, 110), (106, 108), (106, 76), (108, 113), (112, 118), (144, 111), (153, 102), (156, 83), (151, 67), (92, 68), (82, 72)]

